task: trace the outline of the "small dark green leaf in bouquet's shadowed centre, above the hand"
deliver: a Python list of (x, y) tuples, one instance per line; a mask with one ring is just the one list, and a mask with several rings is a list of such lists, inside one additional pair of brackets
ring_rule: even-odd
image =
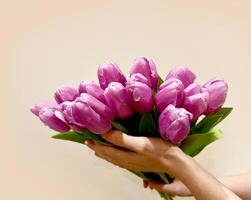
[(155, 131), (155, 123), (150, 113), (143, 114), (139, 122), (139, 134), (144, 136), (151, 136)]

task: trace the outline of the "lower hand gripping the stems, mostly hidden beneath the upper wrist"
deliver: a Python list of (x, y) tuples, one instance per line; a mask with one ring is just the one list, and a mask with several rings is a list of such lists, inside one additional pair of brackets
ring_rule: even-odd
[(192, 196), (191, 191), (178, 179), (170, 184), (160, 183), (157, 181), (143, 181), (144, 188), (149, 187), (159, 192), (167, 192), (174, 196), (188, 197)]

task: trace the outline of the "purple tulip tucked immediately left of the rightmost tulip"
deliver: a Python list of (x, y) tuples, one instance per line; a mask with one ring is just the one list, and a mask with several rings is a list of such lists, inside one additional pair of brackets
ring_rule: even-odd
[(185, 90), (185, 101), (183, 107), (193, 114), (192, 122), (207, 110), (208, 92), (198, 83), (192, 83)]

